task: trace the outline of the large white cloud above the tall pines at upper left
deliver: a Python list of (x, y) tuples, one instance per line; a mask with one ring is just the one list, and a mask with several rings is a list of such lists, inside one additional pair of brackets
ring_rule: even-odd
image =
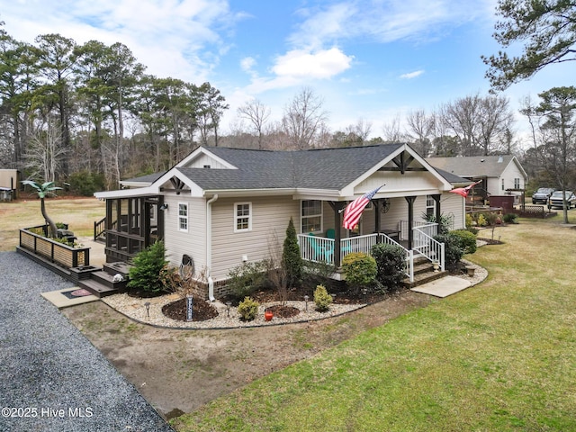
[(227, 0), (23, 0), (0, 18), (17, 40), (58, 32), (78, 44), (121, 42), (149, 74), (208, 80), (227, 47), (220, 31), (244, 17)]

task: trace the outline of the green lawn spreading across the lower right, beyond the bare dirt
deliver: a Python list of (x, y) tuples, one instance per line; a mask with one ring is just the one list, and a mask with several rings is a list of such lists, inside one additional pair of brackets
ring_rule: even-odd
[[(576, 430), (576, 230), (521, 220), (482, 284), (173, 420), (179, 431)], [(300, 344), (304, 341), (299, 341)]]

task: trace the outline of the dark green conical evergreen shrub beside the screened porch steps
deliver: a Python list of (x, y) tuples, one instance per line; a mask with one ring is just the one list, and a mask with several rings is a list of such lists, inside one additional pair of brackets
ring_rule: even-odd
[(164, 284), (160, 274), (167, 264), (163, 241), (148, 246), (132, 260), (128, 288), (148, 293), (162, 292)]

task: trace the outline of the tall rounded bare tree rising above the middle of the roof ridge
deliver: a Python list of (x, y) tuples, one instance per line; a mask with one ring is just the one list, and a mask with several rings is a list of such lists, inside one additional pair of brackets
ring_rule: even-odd
[(322, 109), (323, 100), (310, 87), (302, 88), (292, 103), (284, 109), (282, 129), (289, 137), (293, 148), (311, 148), (317, 134), (328, 119)]

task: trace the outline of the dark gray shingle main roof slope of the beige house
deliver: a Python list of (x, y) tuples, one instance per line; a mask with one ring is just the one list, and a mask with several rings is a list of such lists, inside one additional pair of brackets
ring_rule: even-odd
[(177, 168), (202, 189), (339, 190), (402, 144), (299, 151), (207, 148), (238, 169)]

